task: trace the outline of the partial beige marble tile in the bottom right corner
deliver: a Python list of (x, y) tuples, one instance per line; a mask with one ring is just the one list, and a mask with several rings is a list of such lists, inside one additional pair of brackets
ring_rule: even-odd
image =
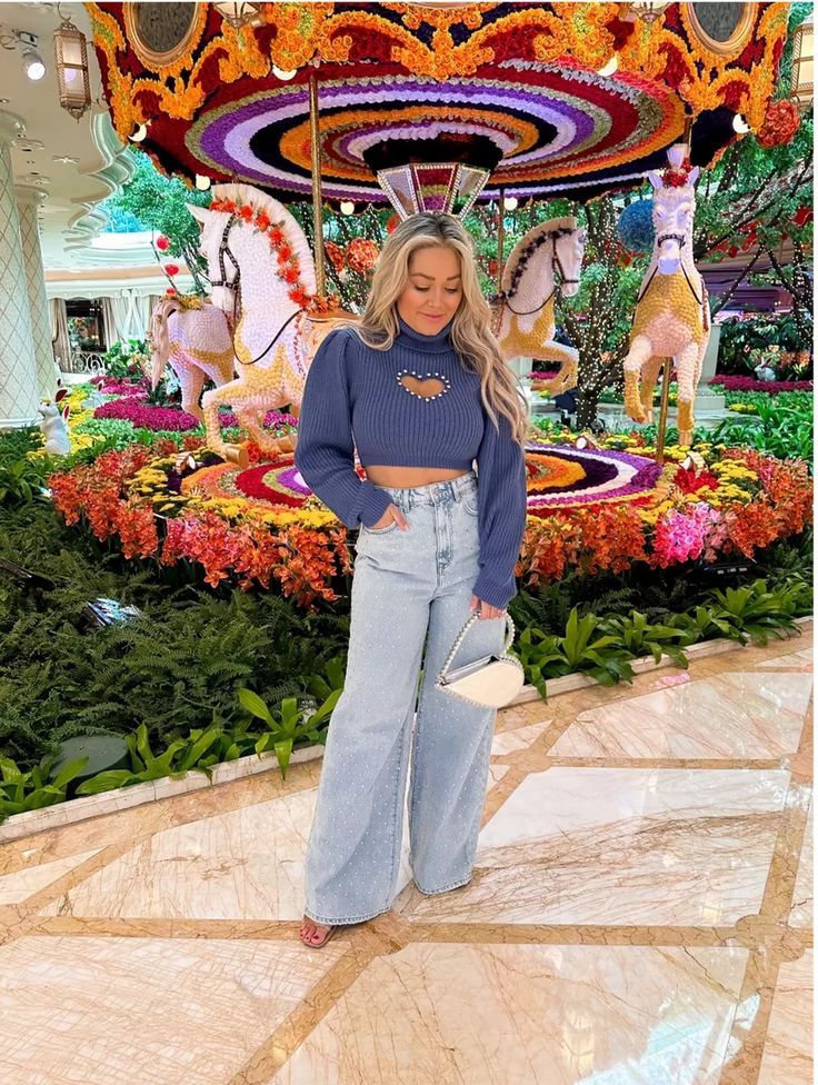
[(812, 1083), (812, 952), (778, 970), (758, 1085)]

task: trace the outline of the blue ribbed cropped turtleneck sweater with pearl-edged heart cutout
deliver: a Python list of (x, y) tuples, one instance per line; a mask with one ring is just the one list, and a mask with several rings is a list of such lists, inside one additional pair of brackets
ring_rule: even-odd
[[(372, 527), (389, 494), (355, 469), (365, 466), (437, 467), (478, 475), (479, 574), (473, 594), (505, 609), (515, 595), (515, 565), (526, 527), (526, 470), (511, 427), (499, 431), (480, 399), (480, 378), (449, 341), (451, 325), (433, 336), (402, 320), (389, 350), (367, 347), (352, 328), (323, 340), (307, 375), (296, 466), (307, 485), (347, 527)], [(411, 375), (442, 381), (422, 398), (401, 384)]]

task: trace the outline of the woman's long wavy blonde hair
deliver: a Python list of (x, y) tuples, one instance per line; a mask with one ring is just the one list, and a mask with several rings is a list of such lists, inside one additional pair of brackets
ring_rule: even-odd
[(361, 320), (353, 325), (373, 350), (389, 350), (399, 331), (398, 298), (409, 281), (409, 260), (418, 249), (441, 246), (460, 261), (462, 298), (451, 326), (451, 345), (463, 365), (480, 376), (480, 398), (499, 429), (503, 415), (520, 444), (528, 428), (528, 408), (519, 380), (506, 364), (491, 331), (491, 310), (480, 290), (471, 238), (459, 219), (422, 211), (405, 219), (388, 238), (372, 276)]

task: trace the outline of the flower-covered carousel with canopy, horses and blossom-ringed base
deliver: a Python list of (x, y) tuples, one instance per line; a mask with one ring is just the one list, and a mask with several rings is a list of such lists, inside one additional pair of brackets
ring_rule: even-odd
[[(552, 218), (506, 253), (501, 208), (557, 197), (577, 206), (646, 179), (656, 240), (625, 388), (630, 417), (649, 420), (664, 372), (658, 438), (532, 439), (518, 573), (536, 581), (572, 567), (672, 565), (721, 546), (751, 553), (808, 516), (797, 496), (782, 498), (799, 492), (798, 479), (782, 478), (792, 465), (690, 448), (709, 336), (690, 246), (696, 180), (737, 132), (764, 123), (786, 4), (88, 9), (120, 137), (212, 193), (208, 208), (191, 208), (211, 295), (171, 286), (153, 313), (148, 376), (156, 384), (167, 366), (178, 375), (178, 440), (54, 476), (69, 519), (119, 536), (129, 557), (198, 561), (212, 584), (275, 578), (307, 606), (331, 600), (333, 578), (350, 571), (347, 532), (293, 465), (310, 359), (343, 316), (326, 286), (327, 209), (497, 207), (498, 338), (509, 361), (558, 368), (559, 391), (576, 384), (577, 358), (556, 340), (555, 302), (578, 289), (583, 230), (575, 216)], [(305, 199), (311, 231), (288, 209)], [(674, 372), (680, 442), (666, 448)], [(736, 491), (746, 500), (715, 545), (708, 528)], [(762, 519), (765, 538), (748, 541), (749, 521), (757, 530)]]

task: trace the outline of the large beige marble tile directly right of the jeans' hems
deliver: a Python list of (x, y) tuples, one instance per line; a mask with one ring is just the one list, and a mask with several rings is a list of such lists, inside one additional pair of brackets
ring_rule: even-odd
[(555, 767), (480, 834), (472, 883), (413, 922), (710, 926), (758, 909), (789, 774)]

